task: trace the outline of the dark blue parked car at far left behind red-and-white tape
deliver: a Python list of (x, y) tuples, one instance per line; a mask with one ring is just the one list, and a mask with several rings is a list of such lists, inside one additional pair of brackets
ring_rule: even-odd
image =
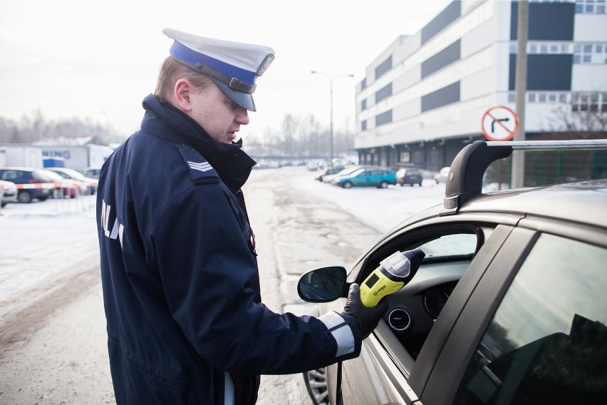
[(0, 168), (0, 180), (10, 181), (17, 186), (17, 200), (31, 202), (44, 201), (52, 197), (55, 185), (44, 175), (43, 169)]

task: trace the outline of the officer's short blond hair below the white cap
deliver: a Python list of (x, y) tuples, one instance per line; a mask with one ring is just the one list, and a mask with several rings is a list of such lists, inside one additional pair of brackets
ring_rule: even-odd
[(156, 96), (161, 103), (172, 101), (175, 83), (177, 83), (180, 78), (187, 79), (192, 83), (192, 86), (201, 90), (204, 90), (211, 84), (211, 78), (209, 78), (209, 76), (194, 71), (194, 69), (177, 61), (177, 59), (172, 56), (169, 56), (162, 62), (162, 66), (160, 67), (154, 96)]

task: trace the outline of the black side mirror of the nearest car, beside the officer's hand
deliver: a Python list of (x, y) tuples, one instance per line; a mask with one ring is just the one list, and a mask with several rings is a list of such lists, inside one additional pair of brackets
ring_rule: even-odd
[(307, 302), (331, 302), (346, 289), (346, 269), (321, 267), (301, 276), (297, 284), (299, 297)]

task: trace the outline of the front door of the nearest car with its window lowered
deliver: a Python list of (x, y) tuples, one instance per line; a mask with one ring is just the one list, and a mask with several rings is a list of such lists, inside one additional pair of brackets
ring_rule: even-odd
[[(505, 229), (495, 232), (492, 226), (481, 226), (477, 222), (435, 218), (408, 227), (406, 231), (395, 232), (360, 260), (349, 276), (351, 281), (359, 283), (380, 260), (396, 250), (420, 247), (427, 255), (412, 282), (388, 297), (390, 309), (384, 322), (365, 339), (360, 357), (343, 363), (344, 404), (412, 404), (417, 400), (408, 379), (413, 376), (415, 367), (428, 368), (427, 363), (436, 356), (434, 351), (422, 356), (422, 347), (428, 333), (435, 328), (439, 313), (438, 319), (443, 318), (441, 310), (447, 309), (447, 299), (452, 300), (443, 295), (446, 298), (441, 301), (439, 295), (455, 294), (456, 284), (459, 286), (462, 281), (466, 285), (474, 284), (487, 267), (487, 257), (494, 255), (508, 232)], [(470, 272), (470, 269), (474, 271)], [(464, 287), (460, 289), (463, 291), (460, 295), (469, 293)], [(425, 304), (430, 294), (436, 294), (432, 314)], [(461, 299), (456, 301), (456, 309), (448, 315), (444, 325), (455, 322), (450, 318), (457, 319)], [(321, 312), (341, 312), (344, 304), (345, 299), (339, 299), (322, 306)], [(336, 366), (331, 366), (327, 370), (327, 381), (333, 401), (335, 379)]]

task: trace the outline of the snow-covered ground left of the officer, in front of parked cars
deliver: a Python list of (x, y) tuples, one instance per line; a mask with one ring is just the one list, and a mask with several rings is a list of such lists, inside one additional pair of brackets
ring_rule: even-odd
[(0, 209), (0, 319), (42, 282), (98, 265), (95, 196)]

